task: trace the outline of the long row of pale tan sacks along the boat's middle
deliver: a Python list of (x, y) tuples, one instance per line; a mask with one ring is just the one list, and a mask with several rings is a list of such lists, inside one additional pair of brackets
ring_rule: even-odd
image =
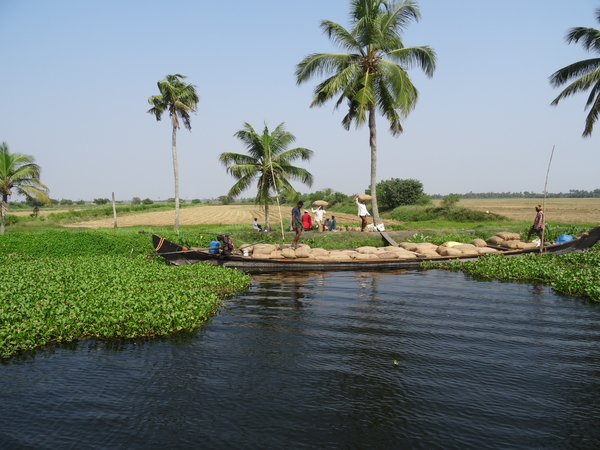
[(445, 242), (438, 246), (428, 242), (413, 244), (402, 242), (399, 247), (359, 247), (354, 250), (325, 250), (310, 248), (300, 244), (297, 249), (291, 245), (255, 244), (243, 245), (249, 258), (255, 259), (314, 259), (314, 260), (367, 260), (367, 259), (417, 259), (435, 256), (478, 256), (496, 253), (498, 250), (486, 247), (485, 241), (475, 239), (470, 244)]

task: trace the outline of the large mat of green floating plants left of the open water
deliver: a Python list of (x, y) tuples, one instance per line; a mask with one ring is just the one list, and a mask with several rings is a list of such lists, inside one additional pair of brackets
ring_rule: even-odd
[[(132, 230), (0, 238), (0, 357), (86, 338), (166, 335), (200, 326), (248, 277), (206, 264), (173, 267)], [(131, 256), (130, 256), (131, 255)]]

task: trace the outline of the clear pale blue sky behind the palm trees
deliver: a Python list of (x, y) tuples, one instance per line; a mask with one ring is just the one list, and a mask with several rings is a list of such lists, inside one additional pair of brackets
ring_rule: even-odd
[[(410, 72), (419, 102), (394, 138), (378, 117), (378, 180), (414, 178), (428, 194), (600, 187), (600, 124), (583, 139), (586, 95), (551, 107), (548, 77), (588, 58), (564, 36), (600, 27), (596, 1), (421, 0), (405, 45), (429, 45), (437, 70)], [(192, 131), (178, 133), (182, 199), (225, 195), (221, 152), (233, 134), (285, 122), (312, 188), (363, 192), (366, 126), (346, 131), (333, 103), (309, 108), (319, 80), (297, 86), (307, 54), (334, 51), (319, 22), (348, 27), (347, 0), (0, 0), (0, 141), (33, 155), (55, 199), (173, 197), (171, 128), (146, 111), (167, 74), (200, 95)], [(244, 197), (253, 197), (247, 190)], [(13, 198), (14, 200), (14, 198)]]

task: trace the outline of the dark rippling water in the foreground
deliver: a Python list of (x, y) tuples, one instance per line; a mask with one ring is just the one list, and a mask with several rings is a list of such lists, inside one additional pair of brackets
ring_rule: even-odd
[(260, 275), (198, 332), (0, 365), (0, 448), (597, 449), (600, 306), (442, 271)]

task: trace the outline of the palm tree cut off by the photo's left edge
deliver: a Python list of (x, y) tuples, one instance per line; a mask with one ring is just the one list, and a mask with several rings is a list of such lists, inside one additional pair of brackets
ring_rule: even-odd
[(0, 144), (0, 234), (5, 232), (5, 218), (8, 211), (8, 197), (14, 192), (34, 198), (42, 203), (50, 203), (48, 188), (40, 181), (42, 169), (35, 164), (35, 158), (21, 153), (10, 153), (6, 142)]

